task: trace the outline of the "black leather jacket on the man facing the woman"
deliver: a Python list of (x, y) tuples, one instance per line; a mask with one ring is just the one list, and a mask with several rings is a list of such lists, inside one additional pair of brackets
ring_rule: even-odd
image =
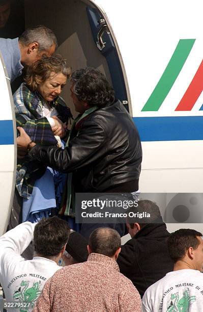
[[(29, 157), (61, 172), (73, 172), (75, 192), (106, 192), (138, 181), (141, 142), (132, 118), (119, 100), (92, 112), (72, 133), (64, 150), (35, 145)], [(125, 192), (133, 191), (134, 187)]]

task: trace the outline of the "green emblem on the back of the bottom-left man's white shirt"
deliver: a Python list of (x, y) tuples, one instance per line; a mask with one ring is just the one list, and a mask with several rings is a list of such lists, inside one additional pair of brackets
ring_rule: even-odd
[(40, 290), (41, 282), (34, 282), (32, 287), (29, 288), (29, 281), (22, 280), (20, 285), (16, 288), (13, 294), (13, 300), (19, 302), (30, 302), (30, 307), (23, 307), (20, 312), (26, 312), (29, 308), (34, 307), (35, 301), (39, 297), (42, 290)]

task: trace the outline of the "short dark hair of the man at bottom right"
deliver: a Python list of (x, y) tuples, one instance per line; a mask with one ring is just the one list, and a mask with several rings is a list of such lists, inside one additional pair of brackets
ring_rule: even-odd
[(201, 236), (200, 232), (189, 228), (181, 228), (171, 233), (167, 239), (171, 259), (176, 263), (184, 257), (189, 247), (196, 249), (200, 244), (197, 237)]

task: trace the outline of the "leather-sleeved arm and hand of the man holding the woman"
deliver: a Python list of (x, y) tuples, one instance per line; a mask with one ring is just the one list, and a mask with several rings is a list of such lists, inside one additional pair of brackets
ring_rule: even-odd
[[(84, 123), (85, 126), (83, 126), (78, 136), (70, 140), (69, 147), (63, 150), (53, 146), (35, 145), (28, 153), (30, 159), (39, 160), (46, 166), (68, 173), (90, 165), (98, 158), (102, 158), (106, 150), (101, 148), (106, 144), (107, 140), (103, 127), (94, 121), (85, 120)], [(17, 140), (18, 146), (26, 145), (30, 140), (22, 131), (21, 134), (23, 135)], [(100, 151), (99, 156), (98, 151)]]

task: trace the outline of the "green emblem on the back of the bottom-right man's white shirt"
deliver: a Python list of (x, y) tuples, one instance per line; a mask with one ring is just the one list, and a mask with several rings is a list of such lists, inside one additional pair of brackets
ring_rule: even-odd
[(166, 312), (190, 312), (190, 307), (195, 300), (196, 296), (190, 296), (189, 288), (183, 290), (183, 295), (179, 296), (179, 292), (171, 294), (167, 301)]

